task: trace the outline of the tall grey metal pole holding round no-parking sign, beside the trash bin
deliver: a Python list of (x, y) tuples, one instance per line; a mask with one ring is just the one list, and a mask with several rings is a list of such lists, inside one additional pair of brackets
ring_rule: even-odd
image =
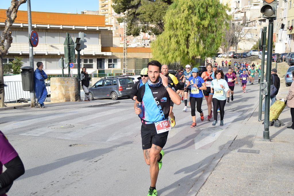
[[(28, 31), (30, 36), (30, 33), (32, 31), (31, 0), (27, 0), (26, 2), (28, 4)], [(29, 43), (29, 65), (34, 70), (34, 52), (33, 52), (33, 46), (31, 45), (31, 43)], [(32, 80), (33, 80), (32, 82), (34, 83), (34, 77), (32, 77)], [(35, 107), (36, 100), (35, 100), (34, 89), (30, 91), (30, 98), (31, 98), (31, 107)]]

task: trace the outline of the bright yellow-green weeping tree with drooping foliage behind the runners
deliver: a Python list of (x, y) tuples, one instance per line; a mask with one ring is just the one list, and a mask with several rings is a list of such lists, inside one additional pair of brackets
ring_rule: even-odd
[(163, 18), (164, 31), (151, 43), (154, 60), (188, 64), (217, 53), (230, 16), (219, 0), (175, 0)]

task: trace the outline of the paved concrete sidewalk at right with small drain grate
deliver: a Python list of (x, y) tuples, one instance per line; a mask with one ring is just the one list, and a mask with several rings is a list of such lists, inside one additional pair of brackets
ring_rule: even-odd
[(270, 141), (263, 140), (258, 108), (243, 121), (238, 134), (197, 195), (294, 195), (294, 130), (290, 109), (270, 127)]

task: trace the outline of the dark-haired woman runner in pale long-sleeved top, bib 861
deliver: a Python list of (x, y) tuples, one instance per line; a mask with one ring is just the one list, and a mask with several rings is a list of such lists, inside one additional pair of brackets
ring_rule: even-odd
[(212, 104), (213, 104), (213, 126), (218, 123), (218, 107), (220, 107), (220, 126), (223, 126), (223, 116), (225, 114), (225, 102), (226, 95), (225, 92), (229, 90), (227, 81), (224, 79), (224, 74), (222, 70), (216, 70), (214, 72), (214, 77), (216, 79), (211, 82), (211, 93), (213, 93)]

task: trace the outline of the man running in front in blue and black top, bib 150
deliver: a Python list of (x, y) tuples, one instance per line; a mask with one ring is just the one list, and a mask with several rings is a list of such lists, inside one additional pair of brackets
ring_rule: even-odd
[[(168, 131), (171, 124), (168, 121), (171, 100), (181, 104), (181, 97), (168, 86), (168, 78), (160, 73), (160, 62), (153, 60), (148, 63), (149, 80), (137, 94), (134, 104), (135, 113), (142, 116), (141, 137), (143, 155), (147, 165), (150, 165), (151, 185), (148, 195), (157, 195), (156, 181), (158, 171), (162, 166)], [(141, 103), (141, 107), (139, 106)], [(142, 109), (141, 109), (142, 108)]]

